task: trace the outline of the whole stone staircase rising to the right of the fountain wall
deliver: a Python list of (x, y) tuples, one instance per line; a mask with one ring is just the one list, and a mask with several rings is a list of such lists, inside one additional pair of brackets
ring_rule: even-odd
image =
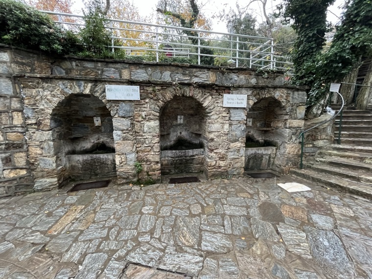
[[(332, 108), (340, 109), (337, 104)], [(308, 157), (303, 169), (291, 175), (372, 200), (372, 111), (344, 107), (341, 144), (337, 144), (340, 116), (335, 121), (335, 142)]]

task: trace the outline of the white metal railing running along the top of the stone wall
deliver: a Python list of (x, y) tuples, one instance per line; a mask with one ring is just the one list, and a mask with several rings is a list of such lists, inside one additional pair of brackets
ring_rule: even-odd
[[(55, 23), (77, 32), (83, 16), (41, 11)], [(151, 23), (108, 19), (113, 52), (122, 49), (129, 56), (147, 55), (160, 62), (164, 58), (185, 58), (192, 64), (228, 65), (261, 69), (290, 70), (288, 57), (275, 54), (272, 38), (198, 30)]]

